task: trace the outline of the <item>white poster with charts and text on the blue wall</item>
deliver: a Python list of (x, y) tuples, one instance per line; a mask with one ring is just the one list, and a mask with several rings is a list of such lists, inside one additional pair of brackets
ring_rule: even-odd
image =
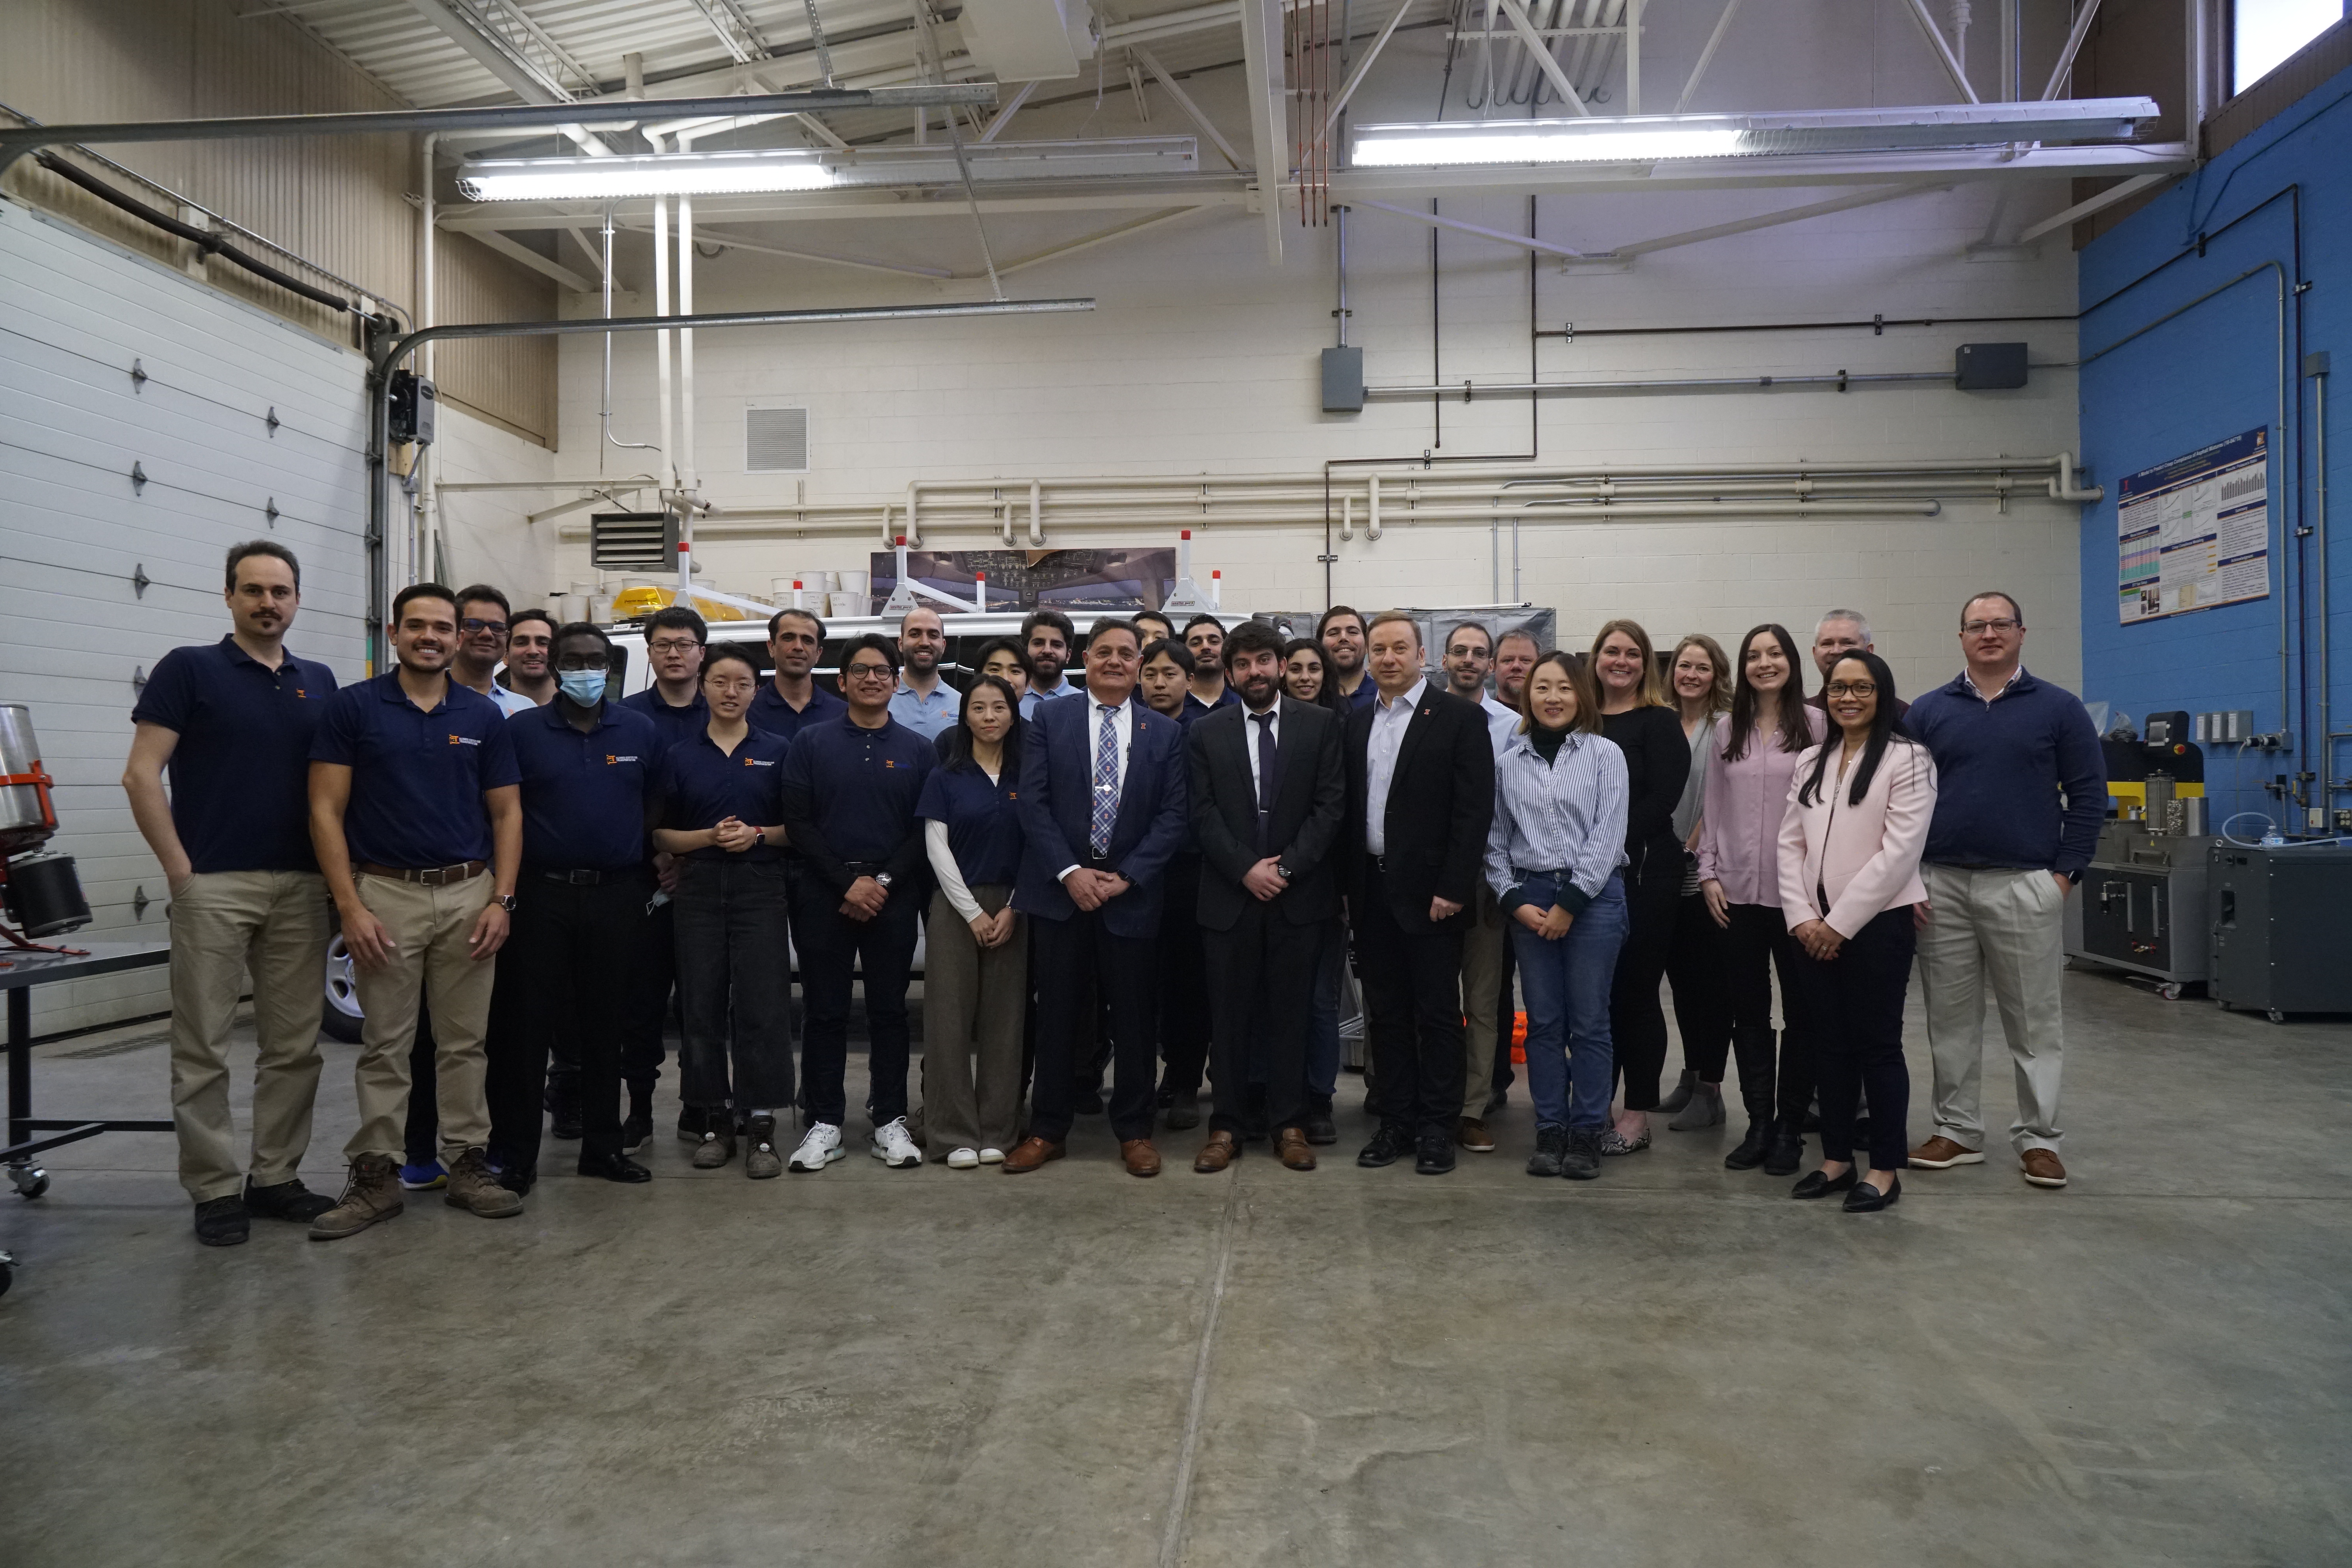
[(2270, 428), (2124, 475), (2117, 621), (2270, 595)]

